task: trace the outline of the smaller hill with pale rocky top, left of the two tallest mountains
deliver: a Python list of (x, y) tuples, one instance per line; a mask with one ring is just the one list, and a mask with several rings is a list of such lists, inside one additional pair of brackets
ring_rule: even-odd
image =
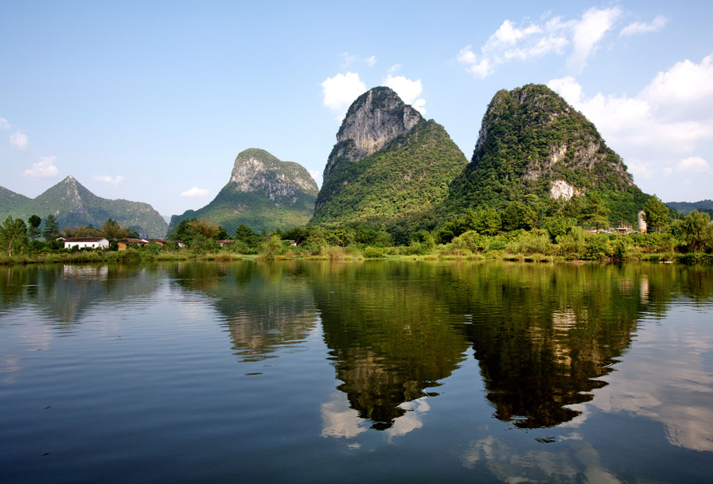
[(312, 216), (317, 191), (302, 165), (283, 162), (264, 149), (245, 149), (215, 199), (202, 209), (172, 216), (170, 228), (194, 217), (217, 223), (230, 234), (240, 224), (254, 231), (303, 226)]

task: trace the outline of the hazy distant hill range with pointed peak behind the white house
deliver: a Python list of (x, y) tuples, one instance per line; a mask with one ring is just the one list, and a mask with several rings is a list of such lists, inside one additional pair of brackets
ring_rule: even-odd
[(74, 177), (66, 177), (35, 199), (0, 187), (0, 219), (7, 216), (27, 219), (37, 215), (44, 219), (53, 214), (60, 228), (95, 227), (108, 219), (135, 228), (144, 237), (165, 237), (168, 225), (149, 204), (128, 200), (109, 200), (96, 196)]

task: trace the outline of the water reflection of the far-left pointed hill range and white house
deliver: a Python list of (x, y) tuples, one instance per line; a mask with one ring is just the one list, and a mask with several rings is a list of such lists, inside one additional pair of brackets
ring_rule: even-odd
[(31, 303), (71, 332), (102, 302), (130, 302), (158, 289), (158, 268), (135, 265), (13, 265), (0, 268), (0, 310)]

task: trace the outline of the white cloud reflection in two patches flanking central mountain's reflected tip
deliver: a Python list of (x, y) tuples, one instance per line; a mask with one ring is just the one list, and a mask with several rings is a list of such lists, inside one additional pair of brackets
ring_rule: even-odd
[[(345, 394), (335, 392), (330, 396), (332, 399), (321, 406), (322, 437), (354, 438), (368, 430), (369, 420), (359, 417), (359, 413), (349, 406)], [(425, 396), (406, 401), (399, 407), (406, 413), (394, 419), (394, 425), (384, 431), (389, 442), (394, 437), (404, 436), (423, 427), (421, 417), (431, 409)]]

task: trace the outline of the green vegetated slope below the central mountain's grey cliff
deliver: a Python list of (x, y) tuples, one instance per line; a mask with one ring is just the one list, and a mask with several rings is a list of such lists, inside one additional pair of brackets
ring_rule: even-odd
[(349, 158), (350, 144), (352, 140), (340, 142), (332, 150), (332, 169), (325, 172), (312, 223), (415, 226), (432, 216), (446, 198), (450, 181), (467, 164), (446, 130), (433, 120), (420, 121), (356, 162)]

